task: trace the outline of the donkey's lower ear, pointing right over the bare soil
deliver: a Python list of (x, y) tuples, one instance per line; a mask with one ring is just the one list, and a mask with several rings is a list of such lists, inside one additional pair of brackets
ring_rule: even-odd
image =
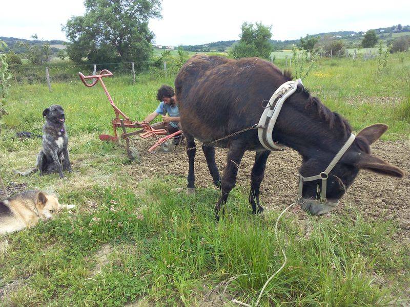
[(368, 155), (367, 153), (362, 153), (359, 155), (354, 163), (354, 166), (387, 176), (397, 178), (403, 178), (404, 176), (404, 171), (402, 169), (389, 164), (376, 156)]

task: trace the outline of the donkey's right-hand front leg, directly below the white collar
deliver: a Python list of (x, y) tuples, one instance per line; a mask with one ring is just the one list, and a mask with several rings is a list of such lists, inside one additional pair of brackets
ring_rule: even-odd
[(266, 161), (270, 153), (271, 151), (268, 150), (256, 152), (255, 163), (251, 173), (251, 191), (249, 193), (249, 203), (252, 206), (252, 213), (261, 213), (263, 211), (262, 206), (259, 205), (259, 188), (264, 177)]

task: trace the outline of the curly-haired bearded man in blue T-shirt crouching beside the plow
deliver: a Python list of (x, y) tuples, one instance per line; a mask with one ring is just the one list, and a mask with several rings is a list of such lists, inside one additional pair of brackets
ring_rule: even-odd
[[(170, 134), (180, 130), (179, 109), (176, 105), (174, 89), (168, 85), (162, 85), (157, 92), (157, 100), (160, 101), (156, 110), (148, 115), (142, 123), (150, 123), (159, 114), (162, 115), (162, 121), (169, 123), (168, 131)], [(167, 115), (168, 114), (168, 115)], [(181, 135), (174, 137), (173, 144), (178, 145), (181, 141)]]

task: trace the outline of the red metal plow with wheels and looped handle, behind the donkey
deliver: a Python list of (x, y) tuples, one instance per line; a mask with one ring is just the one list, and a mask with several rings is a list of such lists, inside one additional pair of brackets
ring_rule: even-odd
[[(99, 139), (101, 141), (110, 141), (114, 143), (119, 143), (119, 138), (117, 135), (117, 128), (122, 128), (122, 133), (121, 133), (121, 138), (125, 140), (126, 142), (126, 149), (127, 149), (127, 154), (128, 157), (131, 160), (139, 160), (139, 153), (137, 148), (135, 146), (130, 144), (129, 138), (131, 136), (139, 135), (141, 138), (157, 138), (157, 136), (165, 136), (160, 138), (150, 149), (148, 149), (149, 152), (154, 151), (155, 148), (160, 146), (161, 151), (163, 152), (169, 152), (172, 150), (172, 141), (170, 140), (171, 138), (182, 134), (182, 131), (179, 130), (176, 133), (173, 133), (171, 135), (168, 134), (168, 123), (155, 123), (155, 124), (147, 124), (147, 123), (140, 123), (138, 121), (133, 122), (130, 120), (130, 118), (125, 115), (124, 112), (122, 112), (115, 104), (114, 100), (112, 99), (110, 93), (107, 90), (106, 85), (104, 84), (103, 78), (104, 77), (111, 77), (113, 73), (111, 73), (109, 70), (102, 70), (98, 75), (92, 75), (92, 76), (84, 76), (83, 73), (78, 73), (81, 81), (83, 81), (84, 85), (87, 87), (93, 87), (95, 84), (100, 82), (101, 86), (103, 87), (104, 93), (107, 95), (108, 101), (110, 102), (111, 106), (114, 109), (115, 113), (115, 118), (111, 120), (111, 124), (114, 130), (114, 135), (100, 135)], [(87, 83), (86, 80), (88, 79), (93, 79), (91, 83)], [(127, 128), (134, 128), (134, 129), (139, 129), (136, 131), (132, 131), (127, 133)]]

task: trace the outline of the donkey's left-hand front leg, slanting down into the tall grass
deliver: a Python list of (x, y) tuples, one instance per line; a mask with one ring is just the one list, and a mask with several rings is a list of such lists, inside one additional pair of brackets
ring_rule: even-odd
[(215, 205), (215, 218), (219, 221), (219, 211), (227, 202), (229, 192), (235, 187), (236, 175), (238, 173), (239, 164), (242, 160), (243, 153), (245, 153), (245, 146), (241, 141), (233, 141), (228, 151), (228, 161), (221, 181), (221, 196)]

